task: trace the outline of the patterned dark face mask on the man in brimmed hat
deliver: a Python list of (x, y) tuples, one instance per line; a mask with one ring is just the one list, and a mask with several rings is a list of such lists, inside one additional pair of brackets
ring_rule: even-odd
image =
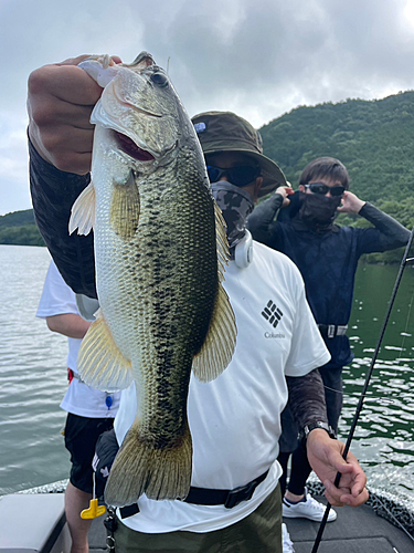
[(234, 248), (246, 232), (247, 217), (254, 209), (252, 195), (226, 180), (211, 185), (213, 196), (227, 225), (230, 248)]

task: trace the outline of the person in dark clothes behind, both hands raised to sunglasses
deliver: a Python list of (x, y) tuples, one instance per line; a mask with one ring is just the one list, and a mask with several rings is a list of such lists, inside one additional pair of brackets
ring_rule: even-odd
[[(341, 161), (331, 157), (314, 159), (300, 176), (298, 191), (294, 194), (286, 186), (277, 188), (248, 219), (253, 237), (290, 258), (304, 278), (307, 300), (331, 354), (319, 372), (325, 385), (329, 425), (335, 432), (342, 409), (342, 368), (353, 358), (347, 328), (358, 261), (363, 253), (400, 248), (410, 237), (410, 231), (392, 217), (350, 192), (349, 185), (350, 178)], [(339, 227), (335, 223), (338, 213), (359, 215), (373, 228)], [(282, 420), (278, 459), (284, 469), (280, 480), (285, 493), (283, 514), (320, 521), (326, 508), (307, 493), (306, 481), (311, 468), (298, 442), (298, 428), (289, 404)], [(336, 518), (337, 513), (331, 510), (328, 521)]]

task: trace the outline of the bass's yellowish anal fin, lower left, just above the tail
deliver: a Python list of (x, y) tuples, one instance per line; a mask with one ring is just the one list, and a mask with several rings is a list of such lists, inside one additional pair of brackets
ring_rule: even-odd
[(81, 378), (93, 388), (118, 392), (132, 382), (131, 363), (118, 349), (100, 309), (77, 355)]

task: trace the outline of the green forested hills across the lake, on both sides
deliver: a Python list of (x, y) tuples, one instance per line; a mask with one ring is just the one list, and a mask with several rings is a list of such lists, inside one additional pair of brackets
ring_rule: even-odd
[[(357, 196), (408, 229), (414, 227), (414, 92), (302, 106), (259, 131), (264, 154), (280, 166), (294, 188), (311, 159), (337, 157), (347, 166)], [(338, 222), (368, 225), (362, 218), (346, 216)], [(0, 243), (44, 244), (31, 209), (0, 217)], [(370, 261), (400, 259), (400, 251), (369, 257)]]

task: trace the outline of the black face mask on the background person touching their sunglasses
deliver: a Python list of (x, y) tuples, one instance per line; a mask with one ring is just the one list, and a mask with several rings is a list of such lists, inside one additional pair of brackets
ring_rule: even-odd
[(338, 215), (341, 205), (340, 197), (330, 198), (317, 194), (300, 194), (299, 218), (314, 230), (329, 230)]

